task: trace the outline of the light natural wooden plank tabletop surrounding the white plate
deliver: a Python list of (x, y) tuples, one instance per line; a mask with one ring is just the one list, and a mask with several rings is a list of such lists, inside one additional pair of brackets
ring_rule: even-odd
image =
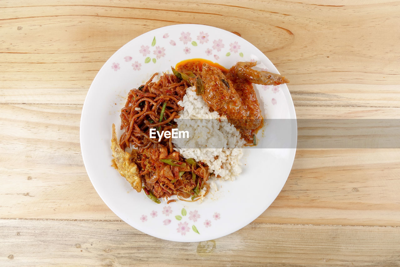
[(180, 23), (236, 31), (258, 47), (290, 79), (298, 119), (399, 118), (400, 2), (2, 0), (0, 21), (0, 266), (400, 265), (399, 149), (298, 149), (254, 222), (175, 243), (110, 211), (79, 144), (82, 104), (104, 62)]

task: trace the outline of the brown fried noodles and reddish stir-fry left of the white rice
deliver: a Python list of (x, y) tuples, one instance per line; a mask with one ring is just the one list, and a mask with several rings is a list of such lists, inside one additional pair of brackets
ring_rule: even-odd
[[(208, 167), (202, 162), (192, 166), (185, 162), (179, 152), (174, 151), (172, 137), (162, 136), (159, 141), (156, 134), (156, 138), (150, 138), (152, 128), (161, 133), (177, 127), (174, 119), (183, 109), (178, 101), (183, 99), (190, 84), (172, 74), (163, 74), (153, 82), (157, 75), (154, 73), (144, 85), (129, 91), (120, 114), (121, 130), (124, 130), (120, 147), (123, 150), (132, 148), (132, 161), (139, 168), (145, 188), (154, 196), (168, 199), (176, 195), (180, 200), (196, 201), (201, 198), (198, 194), (201, 188), (206, 188), (203, 196), (210, 190)], [(185, 199), (190, 196), (192, 200)]]

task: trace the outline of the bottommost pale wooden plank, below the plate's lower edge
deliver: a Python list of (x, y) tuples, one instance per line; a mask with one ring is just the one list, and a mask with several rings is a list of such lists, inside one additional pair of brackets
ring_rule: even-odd
[(398, 227), (251, 223), (200, 243), (157, 239), (118, 221), (0, 220), (0, 229), (2, 266), (400, 265)]

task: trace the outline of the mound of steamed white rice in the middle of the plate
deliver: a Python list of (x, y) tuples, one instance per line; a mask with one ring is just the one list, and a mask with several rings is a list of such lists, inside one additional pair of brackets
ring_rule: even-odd
[(245, 144), (239, 131), (225, 116), (209, 111), (202, 96), (196, 95), (196, 87), (189, 87), (178, 104), (184, 109), (175, 121), (179, 131), (189, 131), (189, 138), (172, 139), (176, 151), (184, 158), (204, 162), (216, 177), (234, 180), (242, 171), (240, 158)]

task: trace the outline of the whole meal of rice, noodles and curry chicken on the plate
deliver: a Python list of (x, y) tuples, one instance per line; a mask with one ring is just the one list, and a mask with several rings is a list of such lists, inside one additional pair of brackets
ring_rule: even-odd
[[(241, 172), (241, 148), (255, 146), (256, 131), (262, 127), (252, 83), (289, 82), (282, 75), (252, 69), (255, 65), (238, 62), (228, 70), (192, 59), (159, 79), (154, 73), (129, 91), (121, 109), (124, 132), (119, 140), (112, 125), (112, 166), (156, 203), (174, 195), (196, 201), (210, 191), (210, 177), (233, 180)], [(190, 138), (173, 138), (176, 129), (187, 131)], [(171, 201), (176, 200), (167, 203)]]

